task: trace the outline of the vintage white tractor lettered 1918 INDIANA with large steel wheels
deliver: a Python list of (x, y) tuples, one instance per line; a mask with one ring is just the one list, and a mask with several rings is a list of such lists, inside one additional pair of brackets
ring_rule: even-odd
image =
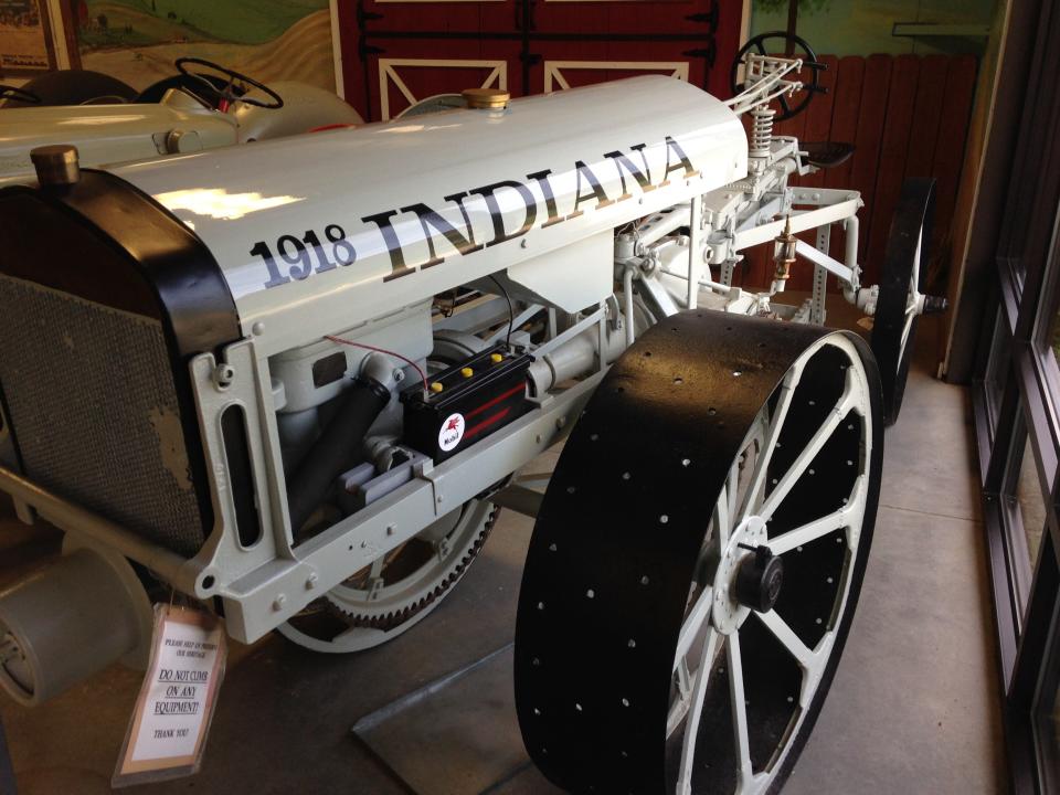
[[(729, 102), (646, 76), (106, 171), (44, 152), (39, 186), (0, 190), (0, 488), (67, 542), (0, 596), (8, 690), (142, 653), (149, 594), (245, 643), (383, 643), (508, 506), (537, 517), (515, 677), (544, 774), (778, 788), (937, 301), (930, 184), (863, 286), (858, 194), (789, 187), (813, 166), (772, 134), (802, 60), (743, 65)], [(762, 293), (732, 286), (755, 245)], [(774, 304), (798, 266), (813, 296)], [(875, 312), (876, 356), (823, 326), (830, 277)], [(564, 438), (547, 491), (517, 477)]]

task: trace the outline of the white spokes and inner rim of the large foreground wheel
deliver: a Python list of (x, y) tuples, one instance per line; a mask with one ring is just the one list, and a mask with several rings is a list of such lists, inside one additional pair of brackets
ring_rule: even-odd
[[(849, 364), (846, 368), (846, 388), (787, 473), (774, 479), (772, 484), (767, 484), (766, 471), (777, 446), (781, 430), (787, 420), (788, 407), (803, 369), (806, 362), (825, 346), (837, 348), (847, 358)], [(854, 344), (846, 338), (829, 336), (822, 338), (799, 357), (785, 375), (780, 390), (780, 396), (772, 411), (770, 402), (762, 407), (759, 422), (755, 423), (743, 445), (744, 452), (733, 463), (732, 474), (721, 490), (711, 519), (708, 548), (704, 551), (706, 560), (713, 565), (712, 579), (710, 584), (699, 593), (698, 598), (690, 604), (681, 626), (674, 660), (675, 695), (667, 721), (667, 736), (678, 729), (682, 731), (677, 795), (691, 793), (691, 772), (703, 696), (709, 677), (712, 674), (720, 674), (722, 669), (729, 678), (732, 731), (738, 750), (735, 793), (738, 795), (757, 794), (768, 788), (791, 751), (791, 739), (796, 735), (805, 720), (806, 708), (820, 683), (820, 677), (836, 640), (835, 627), (839, 626), (840, 618), (848, 608), (849, 570), (857, 559), (859, 528), (869, 490), (868, 468), (872, 459), (873, 428), (868, 378)], [(850, 496), (844, 500), (841, 508), (768, 539), (765, 530), (766, 522), (783, 502), (791, 486), (806, 471), (814, 457), (820, 452), (837, 424), (851, 411), (866, 425), (861, 457), (858, 462), (851, 463), (859, 467), (859, 474)], [(755, 449), (757, 455), (753, 455)], [(746, 471), (748, 467), (750, 471)], [(775, 611), (757, 613), (736, 602), (732, 593), (735, 572), (744, 556), (754, 554), (739, 544), (746, 543), (755, 547), (767, 543), (774, 554), (793, 551), (797, 553), (803, 544), (841, 529), (846, 530), (848, 547), (841, 574), (841, 596), (835, 614), (824, 617), (829, 628), (815, 648), (807, 648)], [(761, 622), (802, 669), (798, 704), (803, 709), (794, 719), (794, 724), (788, 728), (782, 745), (770, 761), (767, 768), (759, 773), (754, 773), (751, 767), (746, 723), (746, 703), (755, 696), (744, 689), (740, 656), (740, 629), (748, 621)], [(723, 666), (719, 666), (717, 660), (722, 653), (725, 655), (725, 661)], [(689, 674), (689, 671), (693, 672)]]

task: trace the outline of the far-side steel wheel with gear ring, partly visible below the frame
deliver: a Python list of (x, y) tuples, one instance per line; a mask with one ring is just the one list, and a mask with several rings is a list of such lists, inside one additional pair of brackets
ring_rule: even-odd
[(279, 632), (299, 646), (338, 654), (392, 640), (423, 621), (460, 581), (497, 510), (484, 500), (466, 502), (354, 572)]

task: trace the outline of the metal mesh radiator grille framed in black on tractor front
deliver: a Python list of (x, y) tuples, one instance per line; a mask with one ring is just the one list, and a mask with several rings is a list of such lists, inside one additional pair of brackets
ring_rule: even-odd
[(182, 554), (203, 541), (161, 324), (0, 274), (0, 383), (31, 480)]

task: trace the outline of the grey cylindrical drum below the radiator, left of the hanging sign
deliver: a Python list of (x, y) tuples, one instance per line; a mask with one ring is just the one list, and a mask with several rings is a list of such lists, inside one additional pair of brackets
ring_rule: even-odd
[(0, 686), (36, 706), (116, 660), (145, 668), (152, 611), (121, 555), (77, 545), (0, 593)]

